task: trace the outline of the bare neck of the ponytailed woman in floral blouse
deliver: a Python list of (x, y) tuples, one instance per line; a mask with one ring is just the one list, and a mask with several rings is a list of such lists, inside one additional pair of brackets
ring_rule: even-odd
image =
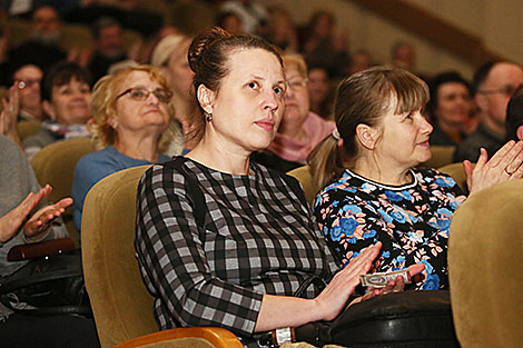
[(413, 179), (409, 168), (392, 168), (383, 162), (378, 166), (378, 159), (367, 157), (357, 159), (349, 169), (366, 179), (389, 186), (406, 185)]

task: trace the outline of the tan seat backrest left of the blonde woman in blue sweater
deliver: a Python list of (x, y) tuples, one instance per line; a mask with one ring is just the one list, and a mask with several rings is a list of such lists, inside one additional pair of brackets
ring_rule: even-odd
[[(52, 192), (49, 200), (57, 202), (71, 196), (72, 176), (80, 158), (95, 151), (90, 138), (56, 141), (42, 148), (31, 159), (31, 166), (41, 186), (49, 183)], [(72, 207), (62, 215), (70, 237), (79, 245), (79, 233), (72, 221)]]

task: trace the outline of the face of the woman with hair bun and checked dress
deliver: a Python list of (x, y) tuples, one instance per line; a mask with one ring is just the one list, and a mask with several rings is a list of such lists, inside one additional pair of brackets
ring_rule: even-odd
[(273, 141), (284, 111), (282, 64), (263, 49), (233, 50), (227, 64), (229, 73), (218, 91), (203, 86), (198, 89), (200, 105), (213, 116), (205, 136), (226, 151), (250, 153), (265, 149)]

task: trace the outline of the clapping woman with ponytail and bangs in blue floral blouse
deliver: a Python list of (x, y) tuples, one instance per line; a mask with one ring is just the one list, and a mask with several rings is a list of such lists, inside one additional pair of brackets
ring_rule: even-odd
[[(335, 105), (336, 130), (310, 153), (317, 187), (314, 215), (341, 264), (383, 243), (374, 271), (425, 265), (415, 289), (447, 288), (448, 227), (465, 196), (454, 180), (415, 167), (431, 158), (432, 126), (421, 110), (428, 89), (398, 68), (376, 67), (344, 80)], [(521, 178), (523, 142), (506, 143), (487, 162), (484, 149), (472, 169), (471, 195)]]

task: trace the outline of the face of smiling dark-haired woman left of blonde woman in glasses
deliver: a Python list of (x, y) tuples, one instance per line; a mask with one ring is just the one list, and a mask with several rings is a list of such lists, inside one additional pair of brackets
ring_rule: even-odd
[(45, 108), (60, 125), (85, 125), (90, 118), (90, 101), (89, 84), (73, 77), (66, 84), (52, 87), (51, 102), (45, 101)]

